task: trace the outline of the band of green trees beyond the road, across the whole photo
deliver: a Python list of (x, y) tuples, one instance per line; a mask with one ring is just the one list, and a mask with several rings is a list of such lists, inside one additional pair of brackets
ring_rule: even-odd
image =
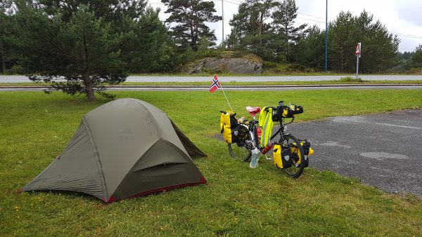
[[(205, 25), (222, 19), (214, 1), (162, 3), (170, 14), (165, 22), (158, 17), (160, 9), (148, 7), (146, 0), (2, 0), (0, 72), (97, 75), (118, 83), (129, 73), (177, 72), (180, 65), (224, 50), (324, 69), (325, 29), (295, 25), (294, 0), (243, 1), (230, 20), (231, 34), (219, 46), (214, 30)], [(422, 46), (399, 53), (397, 36), (363, 11), (356, 16), (340, 12), (329, 22), (328, 70), (354, 72), (358, 42), (362, 73), (422, 67)]]

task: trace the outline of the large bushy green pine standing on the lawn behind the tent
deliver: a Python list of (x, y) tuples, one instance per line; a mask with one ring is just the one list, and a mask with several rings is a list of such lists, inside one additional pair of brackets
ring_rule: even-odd
[(60, 11), (47, 15), (44, 10), (18, 5), (13, 42), (23, 55), (25, 73), (65, 93), (86, 94), (91, 101), (94, 93), (110, 97), (103, 83), (120, 83), (127, 76), (119, 50), (122, 34), (86, 5), (79, 5), (68, 22)]

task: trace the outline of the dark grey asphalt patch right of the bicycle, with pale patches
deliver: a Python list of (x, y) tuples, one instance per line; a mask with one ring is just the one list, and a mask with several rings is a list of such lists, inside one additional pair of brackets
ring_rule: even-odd
[(312, 143), (312, 168), (422, 196), (422, 109), (293, 123), (288, 131)]

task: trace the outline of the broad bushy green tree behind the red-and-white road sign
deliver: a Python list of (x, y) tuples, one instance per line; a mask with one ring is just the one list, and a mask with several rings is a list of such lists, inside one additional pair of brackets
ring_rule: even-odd
[(336, 72), (356, 72), (357, 43), (362, 43), (359, 70), (379, 73), (397, 65), (399, 39), (388, 32), (373, 15), (363, 11), (359, 16), (340, 12), (328, 30), (328, 65)]

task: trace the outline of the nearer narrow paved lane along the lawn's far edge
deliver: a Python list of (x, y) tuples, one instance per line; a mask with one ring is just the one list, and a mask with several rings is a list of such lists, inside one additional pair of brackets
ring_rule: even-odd
[[(1, 87), (0, 91), (41, 91), (46, 87), (15, 86)], [(422, 89), (422, 85), (314, 85), (314, 86), (236, 86), (224, 87), (224, 90), (338, 90), (338, 89), (361, 89), (361, 90), (380, 90), (380, 89)], [(146, 90), (146, 91), (207, 91), (207, 86), (116, 86), (108, 90)]]

